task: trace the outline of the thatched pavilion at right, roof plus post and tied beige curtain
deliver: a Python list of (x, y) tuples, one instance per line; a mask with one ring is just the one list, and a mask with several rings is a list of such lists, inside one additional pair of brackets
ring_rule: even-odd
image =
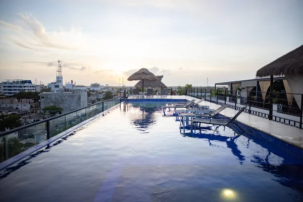
[[(266, 77), (270, 76), (271, 92), (273, 91), (273, 76), (285, 75), (287, 83), (284, 84), (287, 93), (287, 88), (290, 87), (298, 107), (302, 110), (302, 96), (303, 94), (303, 45), (297, 47), (293, 51), (285, 54), (277, 60), (269, 63), (257, 71), (256, 76)], [(289, 85), (289, 87), (288, 87)], [(292, 94), (287, 94), (287, 97)]]

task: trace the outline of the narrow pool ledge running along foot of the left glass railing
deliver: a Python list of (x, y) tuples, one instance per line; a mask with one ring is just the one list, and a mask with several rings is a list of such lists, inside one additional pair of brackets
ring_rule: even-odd
[(117, 104), (117, 105), (115, 105), (115, 106), (113, 106), (113, 107), (111, 107), (110, 109), (105, 110), (104, 112), (101, 112), (101, 113), (99, 113), (99, 114), (97, 114), (97, 115), (95, 115), (95, 116), (93, 116), (93, 117), (91, 117), (91, 118), (89, 118), (89, 119), (87, 119), (87, 120), (85, 120), (85, 121), (83, 121), (83, 122), (81, 122), (81, 123), (79, 123), (79, 124), (77, 124), (77, 125), (69, 128), (69, 129), (63, 131), (62, 133), (59, 133), (58, 135), (55, 135), (54, 137), (51, 137), (51, 138), (49, 138), (49, 139), (47, 139), (47, 140), (45, 140), (45, 141), (43, 141), (43, 142), (41, 142), (41, 143), (39, 143), (39, 144), (37, 144), (35, 146), (30, 147), (29, 149), (23, 151), (22, 153), (20, 153), (20, 154), (18, 154), (16, 156), (14, 156), (14, 157), (12, 157), (12, 158), (4, 161), (4, 162), (1, 162), (0, 163), (0, 171), (2, 171), (3, 169), (5, 169), (5, 168), (7, 168), (7, 167), (9, 167), (11, 165), (13, 165), (14, 163), (20, 161), (21, 159), (27, 157), (28, 155), (34, 153), (35, 151), (37, 151), (39, 149), (42, 149), (43, 147), (47, 146), (48, 144), (53, 143), (54, 141), (60, 139), (61, 137), (65, 136), (65, 135), (67, 135), (69, 133), (74, 132), (74, 130), (82, 127), (83, 125), (85, 125), (85, 124), (89, 123), (90, 121), (98, 118), (99, 116), (103, 116), (104, 114), (108, 113), (109, 111), (111, 111), (112, 109), (118, 107), (121, 104), (122, 104), (122, 102), (119, 103), (119, 104)]

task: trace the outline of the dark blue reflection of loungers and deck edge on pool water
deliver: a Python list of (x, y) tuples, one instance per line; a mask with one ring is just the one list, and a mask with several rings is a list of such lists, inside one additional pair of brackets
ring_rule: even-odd
[[(198, 132), (191, 131), (191, 133), (185, 133), (183, 136), (207, 139), (210, 146), (214, 146), (216, 143), (212, 141), (225, 142), (227, 148), (231, 149), (232, 154), (237, 157), (240, 164), (243, 164), (245, 161), (245, 156), (239, 149), (236, 140), (244, 136), (247, 138), (247, 144), (245, 144), (246, 147), (241, 148), (255, 150), (252, 155), (246, 157), (250, 159), (251, 163), (254, 163), (257, 168), (273, 174), (274, 177), (272, 180), (303, 193), (303, 160), (290, 156), (286, 151), (260, 138), (256, 138), (252, 134), (246, 132), (238, 134), (234, 132), (232, 135), (226, 136), (225, 134), (230, 134), (231, 129), (227, 133), (224, 133), (222, 131), (225, 128), (220, 126), (221, 132), (217, 130), (218, 127), (201, 127)], [(243, 141), (240, 144), (243, 145)]]

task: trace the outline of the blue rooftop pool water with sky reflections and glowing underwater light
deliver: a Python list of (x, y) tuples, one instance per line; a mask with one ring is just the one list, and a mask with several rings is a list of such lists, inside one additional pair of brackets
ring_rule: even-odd
[(302, 160), (228, 127), (181, 134), (162, 105), (122, 104), (16, 163), (0, 201), (303, 201)]

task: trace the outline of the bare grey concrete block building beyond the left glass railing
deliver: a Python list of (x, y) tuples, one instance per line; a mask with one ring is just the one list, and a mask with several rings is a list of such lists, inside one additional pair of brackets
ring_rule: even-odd
[(41, 110), (47, 106), (57, 106), (63, 108), (62, 113), (70, 112), (87, 106), (87, 90), (86, 89), (68, 89), (64, 92), (42, 92), (40, 93)]

